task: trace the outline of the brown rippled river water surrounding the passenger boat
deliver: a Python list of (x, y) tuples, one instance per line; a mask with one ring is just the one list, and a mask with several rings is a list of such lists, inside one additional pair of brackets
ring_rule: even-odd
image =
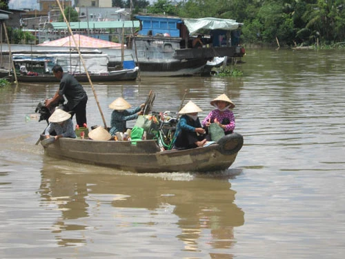
[[(0, 258), (344, 258), (344, 52), (247, 50), (242, 77), (94, 83), (153, 111), (226, 93), (244, 146), (223, 172), (130, 173), (56, 160), (34, 113), (57, 84), (0, 88)], [(89, 126), (103, 124), (92, 88)], [(131, 122), (132, 123), (132, 122)], [(131, 126), (131, 123), (128, 126)]]

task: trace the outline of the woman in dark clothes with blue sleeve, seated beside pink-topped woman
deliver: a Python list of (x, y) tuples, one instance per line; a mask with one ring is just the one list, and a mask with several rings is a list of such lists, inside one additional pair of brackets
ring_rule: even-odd
[(201, 108), (189, 101), (184, 108), (179, 111), (182, 115), (179, 118), (175, 132), (175, 144), (172, 149), (190, 149), (201, 146), (208, 146), (205, 139), (205, 130), (201, 127), (197, 113), (201, 112)]

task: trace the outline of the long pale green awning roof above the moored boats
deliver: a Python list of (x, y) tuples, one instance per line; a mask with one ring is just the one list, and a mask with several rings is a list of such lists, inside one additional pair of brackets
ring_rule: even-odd
[[(50, 23), (55, 30), (67, 29), (65, 22)], [(72, 21), (70, 28), (76, 29), (105, 29), (105, 28), (137, 28), (139, 21)]]

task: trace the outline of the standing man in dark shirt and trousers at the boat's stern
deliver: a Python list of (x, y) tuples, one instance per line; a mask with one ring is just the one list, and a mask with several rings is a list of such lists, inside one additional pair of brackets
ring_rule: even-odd
[(49, 108), (63, 98), (67, 98), (67, 104), (63, 106), (63, 110), (69, 112), (72, 117), (75, 115), (77, 125), (83, 126), (86, 124), (86, 103), (88, 102), (88, 95), (86, 95), (83, 86), (69, 73), (63, 73), (63, 69), (59, 65), (52, 68), (52, 73), (57, 79), (60, 79), (60, 86), (52, 99), (46, 99), (46, 107)]

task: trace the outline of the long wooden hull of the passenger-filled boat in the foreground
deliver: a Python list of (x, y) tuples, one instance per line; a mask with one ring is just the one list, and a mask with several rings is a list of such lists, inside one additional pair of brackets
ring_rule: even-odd
[(159, 173), (228, 169), (235, 161), (242, 145), (242, 135), (233, 133), (222, 137), (217, 144), (183, 151), (160, 151), (155, 140), (132, 143), (61, 137), (52, 144), (42, 146), (46, 155), (59, 159), (109, 166), (137, 173)]

